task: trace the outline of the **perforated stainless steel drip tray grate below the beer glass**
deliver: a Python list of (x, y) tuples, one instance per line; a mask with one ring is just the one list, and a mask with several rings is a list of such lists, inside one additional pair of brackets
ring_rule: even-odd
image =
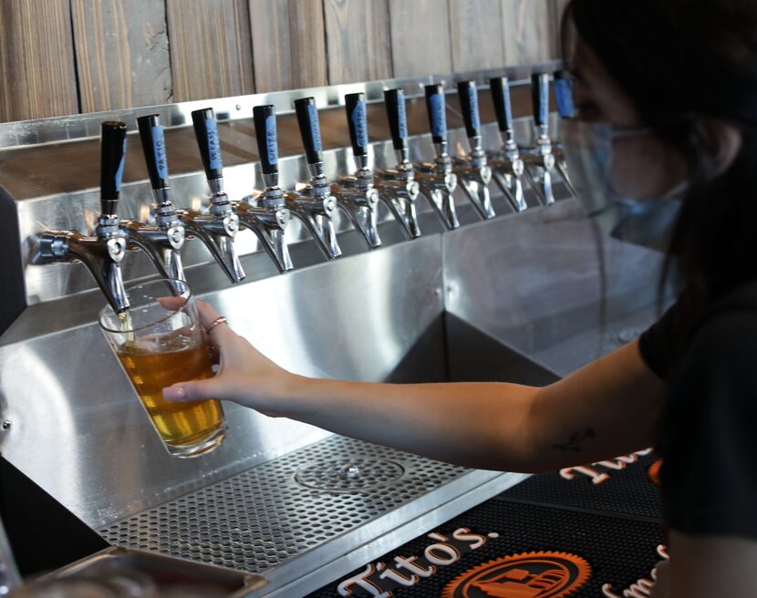
[(99, 533), (119, 546), (264, 572), (469, 471), (333, 436)]

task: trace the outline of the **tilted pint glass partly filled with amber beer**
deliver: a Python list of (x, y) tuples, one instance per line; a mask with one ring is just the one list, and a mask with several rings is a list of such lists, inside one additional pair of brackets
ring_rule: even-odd
[(108, 304), (99, 324), (152, 426), (174, 457), (197, 457), (223, 442), (220, 401), (170, 402), (162, 389), (213, 376), (205, 331), (189, 285), (161, 279), (127, 286), (130, 308)]

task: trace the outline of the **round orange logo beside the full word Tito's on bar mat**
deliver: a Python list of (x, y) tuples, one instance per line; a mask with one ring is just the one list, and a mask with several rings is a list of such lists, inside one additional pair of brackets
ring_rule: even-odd
[(580, 588), (591, 567), (565, 552), (526, 552), (484, 562), (453, 579), (442, 598), (564, 598)]

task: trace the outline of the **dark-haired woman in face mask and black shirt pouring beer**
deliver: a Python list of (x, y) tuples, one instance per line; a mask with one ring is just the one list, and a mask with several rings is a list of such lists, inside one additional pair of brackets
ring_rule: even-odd
[(482, 469), (576, 465), (560, 446), (587, 428), (583, 462), (654, 445), (671, 556), (657, 595), (757, 596), (757, 5), (573, 0), (564, 29), (577, 109), (564, 141), (582, 199), (610, 220), (629, 201), (680, 201), (669, 270), (686, 289), (657, 325), (548, 387), (395, 386), (292, 375), (204, 305), (221, 370), (164, 394)]

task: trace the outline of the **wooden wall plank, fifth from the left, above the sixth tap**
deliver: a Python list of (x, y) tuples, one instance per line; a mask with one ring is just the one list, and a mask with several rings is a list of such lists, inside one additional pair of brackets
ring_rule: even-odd
[(324, 3), (329, 83), (390, 78), (388, 0)]

